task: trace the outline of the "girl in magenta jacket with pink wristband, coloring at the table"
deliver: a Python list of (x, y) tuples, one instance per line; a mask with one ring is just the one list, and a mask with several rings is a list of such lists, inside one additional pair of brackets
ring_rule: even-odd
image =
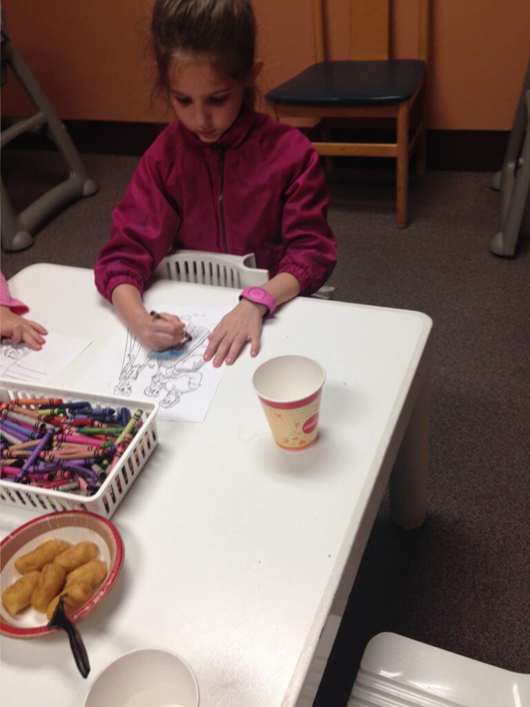
[(139, 163), (114, 209), (95, 282), (129, 329), (155, 351), (184, 339), (175, 315), (153, 317), (143, 288), (172, 249), (245, 255), (269, 269), (220, 321), (204, 354), (228, 365), (259, 351), (264, 316), (316, 291), (336, 262), (319, 158), (298, 130), (253, 109), (255, 21), (248, 0), (155, 0), (158, 88), (177, 119)]

